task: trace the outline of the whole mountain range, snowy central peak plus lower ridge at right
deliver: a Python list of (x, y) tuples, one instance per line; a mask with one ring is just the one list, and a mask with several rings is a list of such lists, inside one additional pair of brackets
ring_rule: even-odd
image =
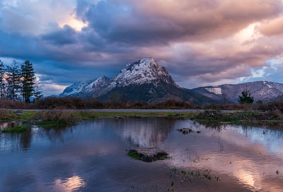
[(238, 95), (248, 88), (255, 100), (271, 100), (283, 95), (283, 84), (267, 81), (218, 85), (195, 88), (180, 88), (161, 67), (149, 57), (127, 64), (112, 78), (101, 76), (95, 80), (74, 83), (59, 97), (96, 98), (121, 102), (161, 102), (168, 99), (186, 100), (192, 104), (209, 104), (228, 100), (237, 102)]

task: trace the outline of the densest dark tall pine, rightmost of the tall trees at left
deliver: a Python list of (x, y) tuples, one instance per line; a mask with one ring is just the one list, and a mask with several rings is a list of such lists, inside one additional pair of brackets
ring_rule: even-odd
[(35, 71), (30, 61), (25, 61), (25, 63), (21, 65), (21, 76), (23, 101), (30, 102), (30, 97), (33, 96), (33, 92), (35, 91)]

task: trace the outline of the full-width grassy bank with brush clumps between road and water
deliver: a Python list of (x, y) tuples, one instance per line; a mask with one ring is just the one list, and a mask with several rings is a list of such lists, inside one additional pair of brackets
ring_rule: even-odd
[(123, 119), (127, 117), (148, 118), (167, 117), (174, 119), (192, 119), (202, 124), (277, 124), (283, 123), (282, 114), (270, 112), (234, 112), (223, 113), (220, 111), (198, 112), (64, 112), (51, 110), (49, 112), (0, 112), (0, 121), (24, 121), (28, 124), (40, 126), (72, 125), (81, 120), (89, 119)]

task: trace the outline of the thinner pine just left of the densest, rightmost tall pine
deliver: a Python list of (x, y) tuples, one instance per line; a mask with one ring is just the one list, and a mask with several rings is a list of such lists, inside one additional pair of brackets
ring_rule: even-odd
[(7, 96), (11, 100), (17, 100), (18, 93), (21, 90), (21, 73), (16, 61), (13, 61), (13, 63), (10, 66), (7, 66), (6, 72), (7, 72), (7, 78), (6, 78)]

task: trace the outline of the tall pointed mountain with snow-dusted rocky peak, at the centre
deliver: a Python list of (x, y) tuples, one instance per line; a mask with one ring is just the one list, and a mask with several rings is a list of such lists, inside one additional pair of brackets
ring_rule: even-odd
[(214, 102), (193, 90), (180, 88), (161, 67), (149, 57), (127, 64), (112, 78), (102, 76), (67, 87), (59, 97), (97, 98), (122, 102), (161, 102), (163, 100), (187, 100), (194, 104)]

